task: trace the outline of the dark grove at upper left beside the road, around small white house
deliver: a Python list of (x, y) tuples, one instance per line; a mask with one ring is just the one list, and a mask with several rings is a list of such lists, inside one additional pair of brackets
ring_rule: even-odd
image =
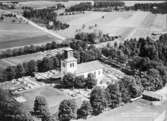
[(53, 9), (24, 9), (23, 16), (32, 21), (44, 24), (48, 29), (62, 30), (69, 27), (68, 24), (57, 20), (57, 13)]

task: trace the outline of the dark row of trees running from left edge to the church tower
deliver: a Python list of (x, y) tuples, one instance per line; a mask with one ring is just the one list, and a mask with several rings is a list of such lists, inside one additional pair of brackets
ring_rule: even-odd
[(63, 55), (53, 57), (44, 57), (42, 60), (31, 60), (20, 63), (16, 66), (8, 66), (1, 69), (0, 81), (10, 81), (23, 76), (33, 76), (34, 72), (46, 72), (52, 69), (60, 68), (60, 61)]

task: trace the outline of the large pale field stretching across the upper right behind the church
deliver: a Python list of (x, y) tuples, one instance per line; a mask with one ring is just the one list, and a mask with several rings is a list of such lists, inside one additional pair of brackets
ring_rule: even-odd
[(167, 32), (167, 15), (154, 15), (150, 12), (89, 11), (80, 15), (60, 16), (58, 19), (70, 24), (69, 29), (58, 32), (66, 37), (73, 37), (80, 31), (102, 31), (113, 36), (120, 35), (123, 39), (146, 37), (153, 32)]

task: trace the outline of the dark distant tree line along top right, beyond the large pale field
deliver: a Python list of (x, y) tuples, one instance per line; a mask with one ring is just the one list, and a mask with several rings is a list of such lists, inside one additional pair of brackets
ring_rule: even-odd
[[(152, 13), (160, 13), (165, 14), (167, 13), (166, 7), (167, 2), (162, 3), (136, 3), (133, 6), (125, 6), (124, 2), (121, 1), (98, 1), (95, 2), (94, 5), (92, 5), (90, 2), (88, 3), (80, 3), (77, 5), (74, 5), (70, 7), (69, 9), (66, 9), (67, 12), (72, 11), (86, 11), (86, 10), (100, 10), (99, 8), (112, 8), (114, 7), (114, 10), (119, 10), (119, 7), (122, 7), (124, 10), (142, 10), (142, 11), (150, 11)], [(104, 11), (106, 11), (104, 9)]]

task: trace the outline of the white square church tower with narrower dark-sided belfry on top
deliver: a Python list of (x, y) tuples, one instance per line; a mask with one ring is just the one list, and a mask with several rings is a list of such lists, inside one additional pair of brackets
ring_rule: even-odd
[(61, 73), (73, 73), (77, 71), (77, 59), (73, 56), (73, 50), (67, 48), (64, 50), (65, 59), (61, 61)]

